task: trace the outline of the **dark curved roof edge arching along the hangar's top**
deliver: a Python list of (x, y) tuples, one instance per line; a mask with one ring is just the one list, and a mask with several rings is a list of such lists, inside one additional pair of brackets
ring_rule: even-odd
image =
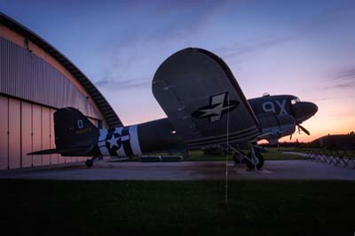
[(83, 88), (88, 91), (95, 104), (99, 107), (99, 110), (101, 114), (103, 114), (108, 126), (122, 126), (122, 122), (118, 118), (117, 114), (114, 113), (114, 109), (108, 104), (106, 98), (102, 96), (95, 85), (91, 83), (91, 81), (86, 77), (86, 75), (83, 74), (83, 72), (79, 70), (79, 68), (75, 67), (75, 65), (56, 48), (54, 48), (50, 43), (47, 43), (42, 37), (36, 35), (34, 32), (22, 26), (16, 20), (12, 20), (2, 12), (0, 12), (0, 24), (3, 24), (7, 28), (11, 28), (19, 35), (28, 38), (29, 41), (35, 43), (38, 47), (42, 48), (43, 51), (51, 55), (51, 57), (58, 60), (59, 63), (65, 67), (79, 83), (83, 85)]

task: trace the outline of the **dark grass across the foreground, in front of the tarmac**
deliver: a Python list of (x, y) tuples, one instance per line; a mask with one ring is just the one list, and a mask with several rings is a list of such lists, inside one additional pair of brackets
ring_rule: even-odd
[[(353, 235), (354, 182), (1, 180), (12, 235)], [(6, 234), (9, 235), (9, 234)]]

